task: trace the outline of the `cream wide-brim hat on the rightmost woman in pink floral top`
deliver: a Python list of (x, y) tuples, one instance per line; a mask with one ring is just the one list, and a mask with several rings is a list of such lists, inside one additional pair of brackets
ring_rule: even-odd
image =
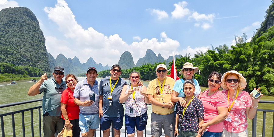
[(238, 88), (239, 88), (240, 90), (243, 90), (243, 89), (246, 87), (246, 80), (245, 80), (244, 76), (243, 76), (241, 73), (239, 73), (239, 72), (237, 72), (237, 71), (235, 71), (235, 70), (230, 70), (230, 71), (225, 72), (225, 73), (223, 74), (222, 80), (221, 80), (221, 82), (222, 82), (221, 87), (222, 87), (223, 89), (228, 90), (228, 87), (227, 87), (227, 84), (226, 84), (226, 79), (224, 79), (224, 78), (225, 78), (227, 75), (231, 75), (231, 74), (235, 74), (235, 75), (237, 75), (237, 76), (239, 77), (239, 86), (238, 86)]

